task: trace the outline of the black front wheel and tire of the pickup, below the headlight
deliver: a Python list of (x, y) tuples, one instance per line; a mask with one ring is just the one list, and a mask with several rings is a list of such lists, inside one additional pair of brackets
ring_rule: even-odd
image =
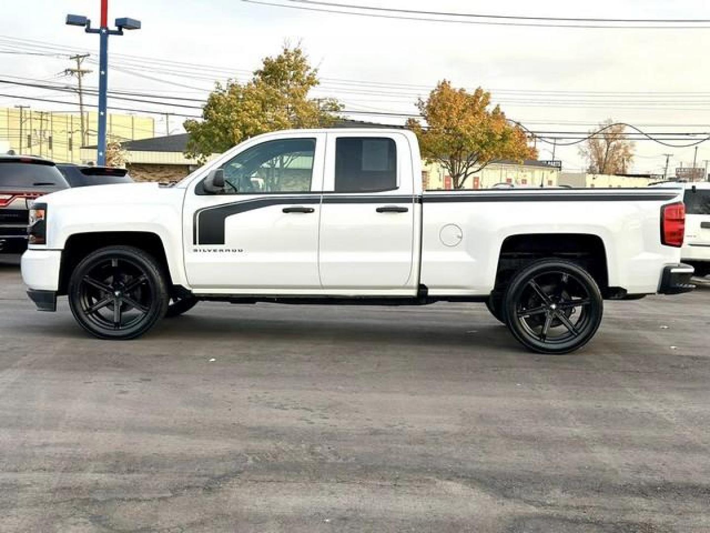
[(153, 328), (168, 308), (168, 284), (155, 258), (141, 249), (110, 246), (80, 262), (69, 281), (76, 321), (101, 339), (128, 340)]

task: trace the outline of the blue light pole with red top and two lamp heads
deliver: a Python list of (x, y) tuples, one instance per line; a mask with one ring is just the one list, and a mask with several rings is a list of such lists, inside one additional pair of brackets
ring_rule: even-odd
[(67, 15), (67, 24), (82, 26), (86, 33), (99, 34), (99, 139), (97, 139), (97, 165), (106, 164), (107, 92), (109, 87), (109, 35), (123, 35), (124, 30), (141, 29), (141, 21), (133, 18), (116, 18), (117, 30), (109, 29), (109, 0), (101, 0), (101, 26), (92, 28), (89, 18)]

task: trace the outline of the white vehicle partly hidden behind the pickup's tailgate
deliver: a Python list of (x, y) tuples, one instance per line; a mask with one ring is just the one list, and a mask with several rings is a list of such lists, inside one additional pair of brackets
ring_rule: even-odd
[(710, 183), (670, 181), (653, 187), (682, 188), (685, 204), (685, 240), (682, 261), (695, 267), (697, 276), (710, 275)]

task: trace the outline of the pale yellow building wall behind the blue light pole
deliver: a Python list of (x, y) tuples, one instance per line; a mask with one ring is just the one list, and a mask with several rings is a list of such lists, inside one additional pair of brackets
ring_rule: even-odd
[[(22, 117), (22, 123), (21, 121)], [(98, 114), (84, 114), (87, 146), (97, 144)], [(155, 136), (155, 120), (128, 114), (109, 114), (109, 140), (128, 141)], [(22, 133), (22, 139), (20, 139)], [(82, 154), (81, 117), (78, 113), (58, 113), (37, 109), (0, 108), (0, 145), (16, 154), (52, 159), (57, 163), (87, 163), (96, 158)], [(6, 151), (6, 150), (5, 150)]]

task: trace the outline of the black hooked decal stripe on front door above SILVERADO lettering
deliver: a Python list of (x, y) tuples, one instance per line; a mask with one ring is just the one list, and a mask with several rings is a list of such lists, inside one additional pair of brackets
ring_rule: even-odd
[(195, 212), (192, 221), (192, 239), (195, 244), (225, 244), (224, 224), (226, 217), (238, 215), (255, 209), (268, 208), (271, 205), (318, 204), (320, 196), (297, 196), (290, 198), (253, 198), (241, 202), (214, 205)]

